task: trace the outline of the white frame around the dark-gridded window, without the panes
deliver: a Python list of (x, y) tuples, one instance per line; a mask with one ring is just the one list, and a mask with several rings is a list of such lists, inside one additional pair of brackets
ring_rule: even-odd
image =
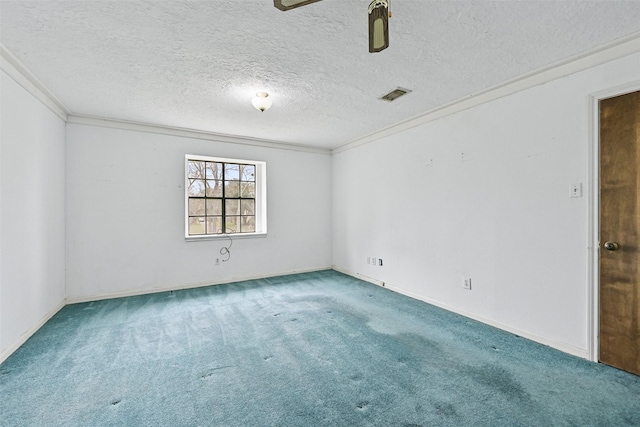
[[(256, 231), (253, 233), (221, 233), (189, 235), (189, 161), (207, 161), (217, 163), (241, 163), (255, 165), (256, 196)], [(267, 236), (267, 163), (257, 160), (231, 159), (224, 157), (200, 156), (185, 154), (184, 156), (184, 237), (187, 241), (216, 240), (266, 237)]]

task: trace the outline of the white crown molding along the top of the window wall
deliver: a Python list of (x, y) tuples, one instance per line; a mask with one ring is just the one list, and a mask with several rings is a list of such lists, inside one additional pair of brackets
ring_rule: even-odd
[(255, 147), (276, 148), (280, 150), (300, 151), (305, 153), (330, 155), (328, 148), (313, 147), (309, 145), (287, 144), (285, 142), (271, 141), (258, 138), (250, 138), (236, 135), (225, 135), (214, 132), (198, 131), (193, 129), (179, 128), (174, 126), (162, 126), (127, 120), (107, 119), (103, 117), (93, 117), (78, 114), (71, 114), (67, 117), (67, 123), (98, 126), (112, 129), (122, 129), (135, 132), (156, 133), (161, 135), (179, 136), (182, 138), (204, 139), (207, 141), (226, 142), (229, 144), (251, 145)]

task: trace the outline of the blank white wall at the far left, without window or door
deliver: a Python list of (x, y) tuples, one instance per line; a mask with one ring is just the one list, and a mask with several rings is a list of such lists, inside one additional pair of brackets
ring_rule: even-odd
[(65, 124), (0, 79), (1, 362), (64, 304)]

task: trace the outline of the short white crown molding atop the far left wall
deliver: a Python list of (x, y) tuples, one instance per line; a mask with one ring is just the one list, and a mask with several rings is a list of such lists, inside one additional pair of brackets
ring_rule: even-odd
[(7, 47), (0, 42), (0, 69), (42, 102), (55, 115), (67, 121), (69, 110)]

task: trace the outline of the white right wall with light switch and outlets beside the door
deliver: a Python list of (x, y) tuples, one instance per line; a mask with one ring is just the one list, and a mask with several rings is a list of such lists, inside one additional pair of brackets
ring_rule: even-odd
[[(589, 94), (637, 80), (639, 65), (628, 56), (334, 155), (334, 265), (587, 357)], [(569, 198), (572, 183), (584, 197)]]

